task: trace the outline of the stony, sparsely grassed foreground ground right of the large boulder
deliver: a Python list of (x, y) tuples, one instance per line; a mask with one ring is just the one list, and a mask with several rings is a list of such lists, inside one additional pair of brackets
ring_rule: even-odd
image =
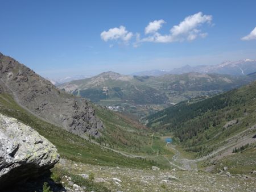
[[(113, 191), (256, 191), (256, 178), (193, 170), (147, 170), (80, 164), (61, 160), (59, 168), (75, 174), (94, 174)], [(73, 191), (72, 189), (70, 191)]]

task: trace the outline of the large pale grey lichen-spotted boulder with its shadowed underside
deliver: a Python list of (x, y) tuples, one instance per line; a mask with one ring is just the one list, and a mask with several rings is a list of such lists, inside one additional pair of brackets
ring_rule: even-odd
[(38, 132), (0, 114), (0, 187), (38, 177), (59, 158), (56, 147)]

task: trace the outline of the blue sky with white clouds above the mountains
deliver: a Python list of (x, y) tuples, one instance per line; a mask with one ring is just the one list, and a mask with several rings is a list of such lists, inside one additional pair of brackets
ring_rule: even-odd
[(0, 0), (0, 52), (48, 78), (256, 59), (256, 1)]

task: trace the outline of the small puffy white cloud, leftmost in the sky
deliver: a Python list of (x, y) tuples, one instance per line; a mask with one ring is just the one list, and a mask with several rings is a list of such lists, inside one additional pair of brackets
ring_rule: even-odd
[(126, 43), (133, 37), (133, 33), (126, 30), (124, 26), (110, 28), (109, 31), (101, 33), (101, 39), (104, 41), (121, 40)]

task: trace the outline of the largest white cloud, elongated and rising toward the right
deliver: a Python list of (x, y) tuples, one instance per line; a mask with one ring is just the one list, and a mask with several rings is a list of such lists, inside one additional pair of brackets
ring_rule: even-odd
[[(154, 22), (151, 22), (151, 23), (154, 23)], [(211, 22), (212, 22), (212, 15), (203, 15), (202, 12), (197, 12), (197, 14), (187, 16), (182, 22), (179, 23), (179, 25), (173, 26), (170, 30), (170, 34), (161, 35), (158, 32), (156, 32), (159, 30), (160, 27), (162, 27), (162, 23), (161, 23), (158, 26), (158, 28), (155, 27), (155, 31), (151, 31), (152, 35), (144, 37), (140, 41), (141, 42), (149, 41), (149, 42), (156, 42), (156, 43), (172, 43), (174, 41), (184, 41), (184, 40), (192, 41), (192, 40), (195, 40), (198, 36), (204, 38), (208, 34), (202, 33), (201, 30), (199, 30), (199, 27), (204, 23), (210, 24)], [(150, 24), (148, 24), (148, 26), (150, 26)], [(145, 28), (145, 33), (146, 33), (146, 28)]]

